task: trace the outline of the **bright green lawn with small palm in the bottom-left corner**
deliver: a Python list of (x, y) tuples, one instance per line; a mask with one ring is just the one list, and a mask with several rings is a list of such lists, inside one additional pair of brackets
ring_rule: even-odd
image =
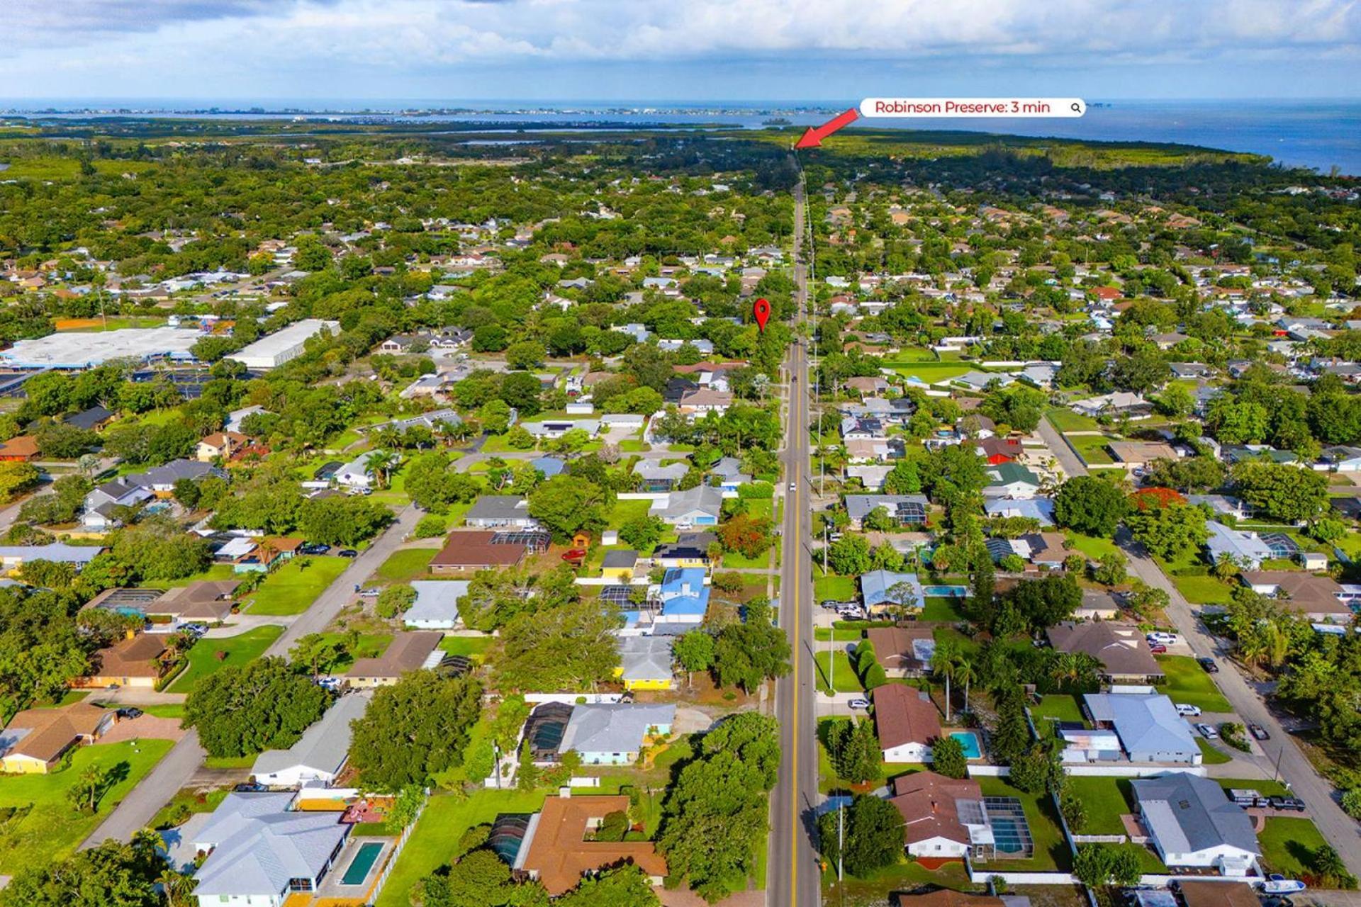
[[(0, 813), (7, 813), (0, 821), (0, 873), (49, 866), (72, 853), (171, 745), (169, 740), (136, 740), (80, 747), (72, 752), (71, 766), (57, 772), (0, 776)], [(118, 781), (97, 812), (79, 813), (67, 802), (67, 789), (90, 766), (113, 771)]]

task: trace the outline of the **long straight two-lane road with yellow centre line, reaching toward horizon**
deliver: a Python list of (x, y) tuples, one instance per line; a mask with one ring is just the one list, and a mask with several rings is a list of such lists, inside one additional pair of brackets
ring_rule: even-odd
[[(800, 260), (804, 189), (795, 189), (795, 281), (802, 321), (808, 296), (807, 269)], [(776, 681), (774, 711), (780, 721), (780, 775), (770, 795), (770, 851), (766, 903), (772, 907), (807, 907), (821, 897), (821, 872), (814, 849), (814, 809), (818, 805), (818, 752), (814, 726), (817, 696), (813, 662), (813, 492), (808, 479), (808, 354), (795, 344), (789, 351), (788, 413), (785, 419), (784, 568), (780, 582), (780, 626), (792, 649), (791, 673)]]

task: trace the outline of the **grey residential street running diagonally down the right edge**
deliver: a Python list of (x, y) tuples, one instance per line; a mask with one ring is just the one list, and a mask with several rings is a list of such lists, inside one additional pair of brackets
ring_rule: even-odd
[(1168, 593), (1172, 600), (1168, 605), (1168, 619), (1185, 638), (1196, 657), (1215, 657), (1219, 673), (1214, 679), (1225, 699), (1233, 706), (1233, 711), (1239, 714), (1240, 721), (1259, 723), (1271, 734), (1270, 740), (1260, 744), (1263, 755), (1253, 756), (1258, 766), (1267, 776), (1271, 776), (1279, 761), (1281, 781), (1290, 786), (1296, 797), (1304, 800), (1313, 824), (1319, 827), (1328, 843), (1338, 849), (1347, 869), (1353, 874), (1361, 876), (1361, 825), (1342, 812), (1342, 808), (1332, 800), (1332, 785), (1313, 771), (1313, 766), (1300, 752), (1294, 738), (1286, 733), (1277, 717), (1267, 708), (1266, 702), (1248, 685), (1233, 662), (1225, 657), (1228, 654), (1226, 646), (1204, 631), (1192, 612), (1191, 604), (1177, 592), (1157, 562), (1149, 558), (1123, 529), (1117, 533), (1116, 543), (1124, 549), (1130, 559), (1130, 568), (1139, 579)]

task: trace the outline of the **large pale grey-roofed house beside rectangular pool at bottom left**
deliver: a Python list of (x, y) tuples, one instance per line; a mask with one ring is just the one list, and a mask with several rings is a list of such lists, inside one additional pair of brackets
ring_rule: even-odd
[(193, 834), (207, 854), (193, 873), (199, 907), (280, 907), (313, 892), (344, 846), (350, 825), (333, 812), (290, 809), (293, 791), (231, 791)]

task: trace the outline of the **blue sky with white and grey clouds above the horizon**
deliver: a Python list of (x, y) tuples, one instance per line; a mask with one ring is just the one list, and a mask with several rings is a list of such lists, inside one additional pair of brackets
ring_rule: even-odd
[(1356, 98), (1361, 0), (0, 0), (0, 99)]

